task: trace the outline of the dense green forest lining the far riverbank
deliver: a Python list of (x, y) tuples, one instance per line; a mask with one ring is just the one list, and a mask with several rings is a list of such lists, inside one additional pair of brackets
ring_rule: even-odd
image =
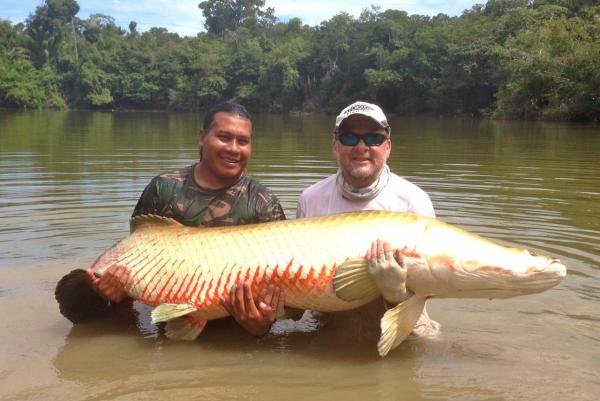
[[(337, 111), (600, 121), (600, 2), (489, 0), (459, 17), (400, 10), (280, 22), (264, 0), (199, 4), (206, 32), (138, 32), (46, 0), (0, 20), (0, 106)], [(200, 15), (200, 13), (199, 13)]]

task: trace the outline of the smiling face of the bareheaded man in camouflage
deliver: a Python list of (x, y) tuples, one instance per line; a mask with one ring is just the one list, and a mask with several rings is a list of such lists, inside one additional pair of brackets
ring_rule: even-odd
[(200, 169), (205, 185), (230, 185), (244, 172), (252, 152), (252, 122), (229, 113), (217, 113), (208, 131), (201, 130)]

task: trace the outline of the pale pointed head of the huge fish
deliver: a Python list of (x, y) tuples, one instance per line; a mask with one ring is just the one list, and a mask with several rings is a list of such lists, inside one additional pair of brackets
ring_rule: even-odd
[(417, 274), (412, 279), (409, 270), (407, 287), (412, 285), (425, 296), (510, 298), (546, 291), (567, 273), (558, 259), (505, 246), (440, 221), (427, 221), (415, 250), (422, 262), (415, 264), (420, 268), (413, 269)]

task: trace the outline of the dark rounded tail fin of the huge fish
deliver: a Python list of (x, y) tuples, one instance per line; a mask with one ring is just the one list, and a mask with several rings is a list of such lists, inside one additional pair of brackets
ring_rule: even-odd
[(110, 306), (94, 291), (87, 275), (86, 270), (72, 270), (58, 281), (54, 290), (60, 313), (73, 323), (104, 316)]

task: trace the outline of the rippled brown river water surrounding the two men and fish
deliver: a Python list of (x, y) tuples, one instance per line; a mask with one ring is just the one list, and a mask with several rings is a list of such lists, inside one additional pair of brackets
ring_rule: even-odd
[[(289, 218), (335, 171), (333, 116), (260, 115), (249, 171)], [(209, 323), (174, 342), (148, 308), (73, 326), (57, 280), (128, 232), (150, 178), (197, 159), (201, 118), (0, 111), (1, 400), (597, 400), (600, 127), (392, 119), (392, 171), (438, 217), (567, 265), (559, 286), (508, 300), (431, 300), (436, 338), (386, 358), (371, 338), (305, 319), (262, 339)]]

